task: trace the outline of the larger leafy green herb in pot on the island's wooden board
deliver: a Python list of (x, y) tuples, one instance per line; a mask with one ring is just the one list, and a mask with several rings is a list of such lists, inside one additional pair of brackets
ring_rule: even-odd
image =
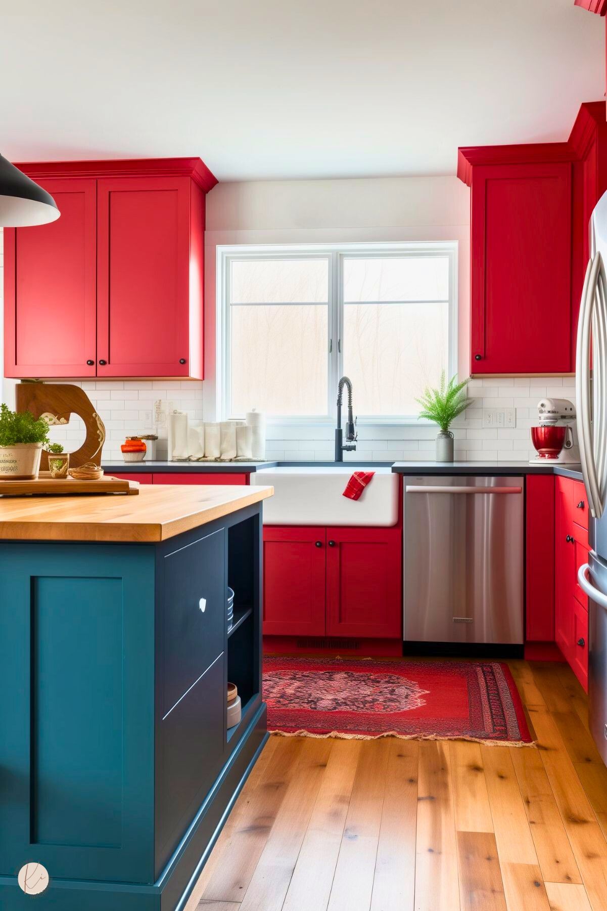
[(48, 425), (44, 418), (0, 405), (0, 479), (35, 480), (45, 443)]

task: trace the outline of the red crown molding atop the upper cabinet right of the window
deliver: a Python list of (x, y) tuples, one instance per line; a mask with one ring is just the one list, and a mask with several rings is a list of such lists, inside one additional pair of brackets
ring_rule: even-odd
[[(607, 0), (604, 0), (607, 6)], [(580, 107), (567, 142), (527, 142), (518, 146), (458, 148), (458, 177), (470, 187), (472, 168), (479, 165), (521, 165), (545, 161), (580, 161), (586, 157), (599, 129), (607, 129), (604, 101), (586, 101)]]

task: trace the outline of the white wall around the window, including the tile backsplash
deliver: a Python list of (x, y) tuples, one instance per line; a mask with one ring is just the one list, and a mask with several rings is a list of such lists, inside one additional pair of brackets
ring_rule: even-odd
[[(454, 177), (280, 180), (219, 184), (207, 196), (205, 358), (203, 383), (86, 381), (82, 385), (106, 423), (106, 458), (120, 457), (126, 434), (149, 429), (155, 402), (172, 403), (195, 417), (215, 419), (216, 248), (235, 243), (348, 241), (458, 241), (460, 377), (470, 363), (470, 193)], [(0, 269), (2, 261), (0, 260)], [(1, 275), (0, 275), (1, 279)], [(10, 402), (12, 384), (3, 395)], [(574, 398), (572, 381), (531, 377), (475, 380), (473, 402), (454, 428), (459, 459), (527, 459), (534, 454), (529, 427), (542, 395)], [(355, 390), (356, 405), (356, 390)], [(513, 429), (482, 428), (482, 408), (516, 409)], [(67, 448), (81, 438), (77, 423), (54, 430)], [(431, 459), (436, 431), (429, 426), (366, 425), (352, 459)], [(270, 425), (268, 458), (332, 459), (330, 427)]]

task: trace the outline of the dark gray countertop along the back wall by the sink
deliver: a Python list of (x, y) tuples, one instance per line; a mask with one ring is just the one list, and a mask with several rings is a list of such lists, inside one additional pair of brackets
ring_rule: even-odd
[[(343, 466), (348, 466), (344, 462)], [(334, 466), (335, 462), (104, 462), (106, 472), (167, 472), (169, 474), (238, 474), (258, 471), (260, 468)], [(578, 465), (538, 465), (529, 462), (352, 462), (357, 468), (390, 467), (399, 475), (562, 475), (582, 481), (582, 468)]]

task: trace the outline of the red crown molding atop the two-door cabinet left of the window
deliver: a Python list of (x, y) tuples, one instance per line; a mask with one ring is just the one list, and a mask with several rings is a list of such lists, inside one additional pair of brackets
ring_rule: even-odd
[(53, 177), (189, 177), (207, 193), (218, 182), (201, 159), (102, 159), (95, 161), (26, 161), (15, 168), (33, 180)]

